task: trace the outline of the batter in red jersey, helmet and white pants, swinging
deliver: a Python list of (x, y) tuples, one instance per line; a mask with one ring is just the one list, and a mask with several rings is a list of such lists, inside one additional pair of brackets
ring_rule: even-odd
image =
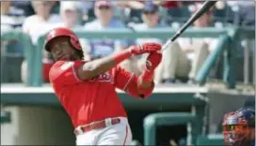
[[(153, 71), (162, 60), (161, 45), (145, 43), (93, 61), (83, 60), (78, 37), (66, 28), (55, 28), (46, 36), (45, 50), (56, 63), (49, 76), (56, 96), (74, 126), (76, 145), (129, 145), (132, 133), (116, 88), (146, 99), (154, 88)], [(149, 53), (138, 77), (120, 62)]]

